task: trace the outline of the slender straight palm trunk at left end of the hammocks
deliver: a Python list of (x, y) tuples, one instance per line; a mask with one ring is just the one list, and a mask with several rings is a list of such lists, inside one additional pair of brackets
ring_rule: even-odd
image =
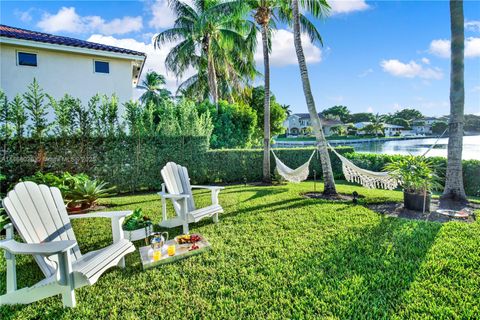
[(270, 58), (268, 56), (268, 25), (262, 25), (265, 100), (263, 103), (263, 181), (270, 183)]

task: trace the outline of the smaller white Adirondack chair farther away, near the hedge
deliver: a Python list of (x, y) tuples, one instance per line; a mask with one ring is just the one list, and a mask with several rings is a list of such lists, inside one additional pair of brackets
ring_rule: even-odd
[[(174, 162), (167, 163), (161, 172), (165, 183), (162, 183), (162, 192), (158, 193), (162, 197), (162, 222), (160, 226), (165, 228), (183, 226), (183, 233), (187, 234), (189, 223), (198, 222), (203, 218), (212, 216), (213, 221), (218, 222), (218, 214), (223, 212), (222, 206), (218, 204), (218, 194), (220, 190), (224, 189), (223, 187), (190, 185), (187, 168)], [(196, 209), (192, 188), (210, 190), (212, 204), (205, 208)], [(173, 208), (177, 213), (175, 218), (167, 218), (167, 199), (170, 199), (173, 203)]]

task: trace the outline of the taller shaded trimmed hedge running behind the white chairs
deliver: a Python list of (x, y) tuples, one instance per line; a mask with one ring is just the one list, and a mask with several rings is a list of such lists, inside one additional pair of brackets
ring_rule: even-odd
[(42, 145), (34, 140), (21, 145), (3, 141), (0, 172), (7, 179), (2, 190), (39, 170), (84, 172), (117, 186), (119, 192), (158, 190), (160, 170), (168, 161), (195, 167), (207, 148), (207, 137), (50, 138)]

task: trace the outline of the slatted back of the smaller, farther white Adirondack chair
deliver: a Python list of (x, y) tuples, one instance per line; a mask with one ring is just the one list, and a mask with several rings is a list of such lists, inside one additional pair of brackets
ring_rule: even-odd
[[(192, 196), (192, 187), (190, 185), (187, 168), (175, 162), (169, 162), (163, 167), (161, 173), (168, 193), (188, 194), (190, 197), (187, 199), (187, 209), (188, 211), (195, 210), (195, 202)], [(180, 206), (177, 204), (174, 205), (174, 207), (177, 214), (180, 213)]]

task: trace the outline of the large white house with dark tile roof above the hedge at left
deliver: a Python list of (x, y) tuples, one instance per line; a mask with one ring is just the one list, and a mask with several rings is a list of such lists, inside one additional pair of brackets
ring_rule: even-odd
[(133, 97), (146, 55), (84, 40), (0, 25), (1, 89), (12, 99), (36, 78), (54, 98)]

